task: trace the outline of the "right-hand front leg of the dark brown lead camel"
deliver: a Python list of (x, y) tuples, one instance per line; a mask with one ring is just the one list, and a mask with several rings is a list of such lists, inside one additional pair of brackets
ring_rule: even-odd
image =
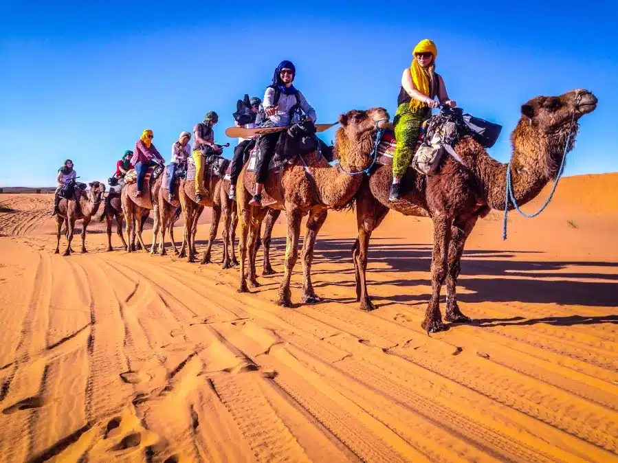
[(472, 233), (478, 216), (472, 216), (467, 221), (459, 223), (455, 221), (451, 227), (451, 242), (448, 251), (448, 273), (446, 275), (446, 321), (452, 323), (466, 323), (472, 321), (459, 310), (457, 305), (457, 277), (461, 271), (461, 255), (465, 240)]

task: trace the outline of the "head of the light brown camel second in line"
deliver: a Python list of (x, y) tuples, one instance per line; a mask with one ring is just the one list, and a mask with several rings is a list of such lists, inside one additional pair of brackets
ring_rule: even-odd
[(335, 157), (355, 148), (355, 151), (369, 155), (375, 142), (378, 128), (388, 126), (390, 116), (384, 108), (367, 110), (353, 109), (339, 116), (341, 127), (335, 134)]

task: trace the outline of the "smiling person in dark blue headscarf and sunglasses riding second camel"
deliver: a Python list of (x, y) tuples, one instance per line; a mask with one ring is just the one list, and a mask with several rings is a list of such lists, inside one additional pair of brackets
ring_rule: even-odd
[[(296, 122), (298, 109), (302, 109), (307, 115), (307, 121), (316, 122), (316, 111), (305, 99), (300, 91), (294, 88), (292, 82), (296, 77), (296, 67), (290, 61), (282, 61), (277, 66), (272, 77), (272, 84), (267, 87), (264, 93), (263, 107), (267, 117), (263, 126), (289, 126)], [(274, 154), (275, 146), (281, 135), (269, 133), (258, 138), (260, 155), (256, 162), (256, 194), (253, 196), (250, 205), (261, 207), (262, 189), (268, 175), (268, 164)]]

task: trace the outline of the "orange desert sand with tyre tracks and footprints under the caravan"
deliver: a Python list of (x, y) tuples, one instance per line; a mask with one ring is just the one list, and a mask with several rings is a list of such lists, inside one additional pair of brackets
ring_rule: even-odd
[[(562, 179), (537, 218), (509, 214), (507, 241), (500, 212), (480, 221), (458, 298), (475, 323), (431, 336), (426, 218), (375, 232), (364, 313), (355, 212), (318, 236), (324, 302), (282, 308), (283, 218), (279, 273), (239, 294), (218, 263), (129, 254), (115, 233), (105, 252), (97, 222), (89, 253), (54, 255), (51, 195), (0, 203), (3, 462), (618, 462), (618, 174)], [(299, 260), (295, 303), (301, 277)]]

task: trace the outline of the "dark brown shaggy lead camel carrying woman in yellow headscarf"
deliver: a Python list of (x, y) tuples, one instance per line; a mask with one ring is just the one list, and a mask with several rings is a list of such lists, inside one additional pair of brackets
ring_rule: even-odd
[[(535, 198), (542, 188), (561, 173), (561, 163), (573, 149), (582, 115), (596, 109), (597, 98), (587, 90), (560, 96), (538, 96), (521, 107), (521, 118), (511, 133), (511, 163), (499, 163), (472, 137), (465, 136), (454, 146), (462, 159), (446, 156), (440, 170), (432, 176), (408, 169), (402, 179), (404, 194), (389, 203), (391, 166), (378, 166), (357, 196), (358, 237), (352, 248), (356, 273), (357, 300), (364, 310), (375, 308), (367, 293), (367, 249), (371, 233), (389, 209), (408, 216), (425, 216), (434, 223), (431, 264), (432, 296), (428, 302), (423, 329), (444, 330), (439, 308), (441, 286), (446, 280), (446, 321), (470, 321), (456, 301), (456, 282), (461, 270), (465, 241), (479, 217), (489, 211), (505, 210), (507, 169), (510, 168), (513, 192), (518, 205)], [(508, 209), (514, 205), (509, 202)]]

